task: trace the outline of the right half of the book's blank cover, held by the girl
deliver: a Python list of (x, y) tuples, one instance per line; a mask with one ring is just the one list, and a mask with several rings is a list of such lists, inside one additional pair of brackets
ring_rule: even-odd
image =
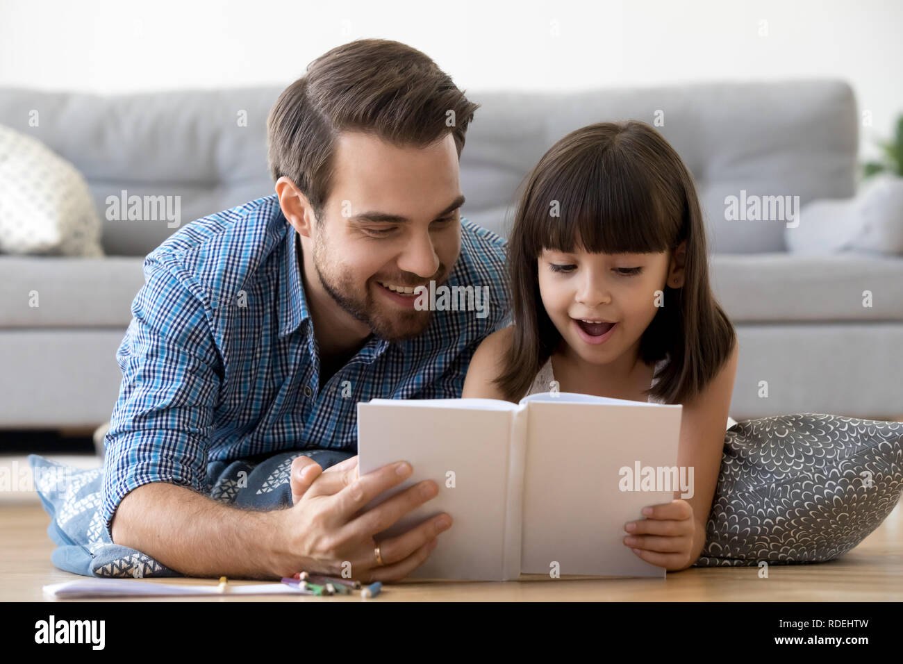
[(641, 485), (620, 471), (675, 467), (682, 407), (535, 396), (548, 398), (526, 408), (522, 573), (664, 577), (664, 568), (624, 546), (624, 524), (643, 519), (647, 505), (673, 500), (678, 487), (621, 491), (627, 480), (630, 489)]

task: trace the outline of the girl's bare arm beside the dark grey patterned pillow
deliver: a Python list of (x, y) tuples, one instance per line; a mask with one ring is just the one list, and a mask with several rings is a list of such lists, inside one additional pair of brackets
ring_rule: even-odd
[[(721, 470), (721, 453), (724, 449), (724, 432), (731, 407), (734, 379), (737, 376), (737, 358), (740, 344), (735, 343), (728, 360), (724, 362), (708, 387), (691, 402), (684, 404), (680, 427), (680, 444), (677, 449), (677, 466), (693, 467), (694, 493), (686, 500), (693, 507), (695, 523), (693, 549), (690, 562), (696, 562), (705, 547), (705, 528), (712, 511), (712, 500)], [(681, 491), (675, 491), (675, 499)]]

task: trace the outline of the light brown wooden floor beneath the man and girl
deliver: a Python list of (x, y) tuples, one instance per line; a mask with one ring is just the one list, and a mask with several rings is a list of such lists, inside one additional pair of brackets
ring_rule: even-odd
[[(42, 586), (83, 578), (51, 564), (50, 518), (36, 500), (0, 502), (0, 601), (42, 601)], [(213, 580), (145, 579), (144, 583), (200, 583)], [(236, 582), (243, 583), (243, 582)], [(254, 582), (247, 582), (254, 583)], [(259, 583), (259, 582), (256, 582)], [(232, 602), (263, 597), (191, 598)], [(291, 596), (288, 602), (359, 602), (360, 598)], [(507, 583), (413, 583), (387, 585), (369, 602), (391, 601), (666, 601), (666, 602), (888, 602), (903, 601), (903, 509), (846, 556), (817, 565), (691, 568), (666, 579), (558, 579)], [(121, 601), (121, 600), (116, 600)], [(160, 598), (144, 601), (178, 601)], [(185, 601), (183, 598), (182, 601)]]

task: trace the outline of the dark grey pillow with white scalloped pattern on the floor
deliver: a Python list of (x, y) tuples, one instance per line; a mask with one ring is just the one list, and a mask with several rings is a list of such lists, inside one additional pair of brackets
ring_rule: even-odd
[(747, 420), (724, 438), (694, 566), (822, 563), (878, 528), (903, 491), (903, 422), (805, 413)]

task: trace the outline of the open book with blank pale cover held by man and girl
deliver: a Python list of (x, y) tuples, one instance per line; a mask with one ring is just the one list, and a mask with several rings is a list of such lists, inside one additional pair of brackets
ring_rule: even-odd
[(397, 461), (414, 467), (367, 509), (416, 482), (439, 485), (435, 498), (377, 541), (447, 512), (452, 528), (409, 578), (664, 577), (663, 567), (624, 545), (624, 524), (643, 519), (647, 505), (670, 502), (675, 491), (692, 491), (680, 486), (675, 467), (682, 408), (567, 392), (530, 395), (517, 405), (482, 398), (358, 403), (358, 472)]

